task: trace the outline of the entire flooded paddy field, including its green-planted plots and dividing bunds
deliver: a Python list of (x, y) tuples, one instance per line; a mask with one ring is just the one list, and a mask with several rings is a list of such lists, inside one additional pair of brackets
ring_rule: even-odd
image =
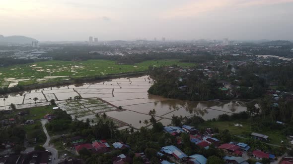
[[(105, 82), (84, 83), (61, 87), (49, 87), (0, 97), (0, 110), (8, 110), (11, 103), (18, 109), (49, 105), (54, 99), (57, 105), (73, 119), (98, 121), (96, 114), (114, 121), (120, 129), (127, 126), (140, 128), (148, 120), (149, 110), (155, 109), (157, 121), (168, 125), (172, 116), (201, 116), (204, 120), (217, 118), (220, 114), (231, 115), (245, 111), (243, 101), (190, 102), (150, 95), (147, 89), (153, 81), (148, 76), (120, 78)], [(80, 100), (74, 100), (81, 96)], [(38, 99), (35, 101), (35, 97)], [(5, 99), (5, 101), (4, 101)], [(119, 110), (121, 106), (123, 109)], [(139, 122), (142, 123), (139, 123)]]

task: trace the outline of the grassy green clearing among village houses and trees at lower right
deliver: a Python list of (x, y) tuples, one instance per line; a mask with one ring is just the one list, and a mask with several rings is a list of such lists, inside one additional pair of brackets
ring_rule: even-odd
[[(240, 126), (234, 126), (234, 124), (239, 123), (242, 124), (242, 127)], [(288, 139), (285, 135), (282, 134), (281, 130), (273, 130), (273, 131), (253, 131), (251, 130), (251, 123), (249, 121), (231, 121), (231, 122), (210, 122), (207, 121), (203, 124), (201, 124), (201, 127), (217, 127), (220, 131), (223, 131), (225, 129), (229, 130), (231, 134), (242, 136), (245, 138), (250, 138), (250, 134), (252, 132), (257, 132), (261, 134), (265, 134), (269, 136), (269, 143), (281, 145), (281, 140), (283, 140), (286, 144), (289, 143)]]

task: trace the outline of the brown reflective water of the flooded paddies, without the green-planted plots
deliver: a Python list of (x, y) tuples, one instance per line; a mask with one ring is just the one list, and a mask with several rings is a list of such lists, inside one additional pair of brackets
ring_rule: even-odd
[(107, 113), (117, 120), (129, 122), (138, 126), (136, 121), (148, 118), (146, 114), (152, 109), (156, 110), (158, 120), (163, 120), (164, 123), (169, 123), (173, 115), (182, 117), (197, 115), (208, 120), (217, 118), (220, 114), (224, 113), (231, 115), (233, 113), (245, 111), (245, 103), (251, 101), (190, 102), (168, 99), (147, 93), (147, 89), (151, 86), (152, 82), (153, 81), (149, 79), (148, 76), (144, 76), (12, 93), (0, 97), (0, 109), (8, 109), (8, 105), (11, 103), (18, 105), (19, 108), (29, 107), (34, 103), (32, 100), (34, 97), (39, 97), (37, 104), (34, 105), (42, 106), (48, 104), (50, 99), (60, 101), (81, 95), (83, 98), (97, 97), (117, 107), (122, 106), (123, 109), (128, 110), (128, 113)]

